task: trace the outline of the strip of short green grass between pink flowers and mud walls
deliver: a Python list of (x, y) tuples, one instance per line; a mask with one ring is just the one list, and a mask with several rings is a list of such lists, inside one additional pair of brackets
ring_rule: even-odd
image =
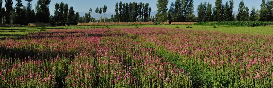
[[(192, 28), (186, 28), (186, 27)], [(142, 28), (142, 27), (161, 27), (161, 28), (186, 28), (193, 30), (204, 30), (204, 31), (219, 31), (226, 33), (244, 33), (244, 34), (263, 34), (263, 35), (273, 35), (273, 27), (247, 27), (247, 26), (217, 26), (213, 28), (212, 26), (203, 25), (111, 25), (111, 26), (58, 26), (58, 27), (0, 27), (0, 39), (7, 37), (20, 37), (24, 36), (29, 32), (40, 32), (48, 31), (51, 29), (90, 29), (90, 28)]]

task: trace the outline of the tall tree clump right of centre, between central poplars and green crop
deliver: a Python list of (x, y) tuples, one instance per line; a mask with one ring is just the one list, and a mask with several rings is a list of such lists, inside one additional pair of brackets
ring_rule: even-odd
[[(195, 21), (193, 0), (176, 0), (172, 2), (170, 8), (167, 8), (168, 0), (158, 0), (156, 4), (158, 13), (156, 19), (158, 22), (177, 21)], [(167, 12), (168, 11), (168, 12)]]

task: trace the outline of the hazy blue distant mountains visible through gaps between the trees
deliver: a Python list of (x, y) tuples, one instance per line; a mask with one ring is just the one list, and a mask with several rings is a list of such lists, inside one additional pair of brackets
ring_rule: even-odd
[[(85, 13), (88, 13), (88, 12), (79, 12), (79, 15), (81, 17), (85, 16)], [(155, 16), (155, 14), (157, 14), (158, 11), (153, 11), (151, 12), (151, 16)], [(249, 12), (250, 13), (250, 12)], [(111, 18), (111, 15), (115, 15), (116, 13), (115, 12), (106, 12), (105, 13), (105, 17), (107, 17), (108, 19)], [(194, 11), (194, 16), (197, 16), (197, 11)], [(233, 11), (233, 14), (235, 14), (235, 16), (238, 14), (238, 11)], [(91, 17), (94, 17), (94, 18), (97, 18), (97, 15), (98, 15), (98, 19), (100, 19), (100, 14), (96, 14), (95, 12), (92, 12), (91, 13)], [(104, 13), (101, 14), (102, 18), (104, 18)]]

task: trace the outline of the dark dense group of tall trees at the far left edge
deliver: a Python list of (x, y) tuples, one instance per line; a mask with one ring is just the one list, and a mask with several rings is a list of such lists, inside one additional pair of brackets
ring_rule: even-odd
[(26, 6), (22, 4), (22, 0), (16, 0), (15, 7), (12, 7), (13, 0), (4, 0), (5, 6), (2, 7), (3, 1), (0, 0), (0, 18), (1, 23), (22, 24), (28, 23), (48, 23), (49, 3), (51, 0), (38, 0), (35, 5), (35, 11), (32, 9), (32, 0), (25, 0)]

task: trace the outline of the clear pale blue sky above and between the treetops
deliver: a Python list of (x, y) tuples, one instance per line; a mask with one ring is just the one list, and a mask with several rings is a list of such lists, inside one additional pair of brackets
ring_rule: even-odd
[[(3, 5), (2, 7), (5, 6), (5, 1), (3, 1)], [(49, 10), (50, 10), (50, 14), (54, 14), (54, 10), (55, 10), (55, 3), (60, 3), (60, 2), (64, 2), (67, 3), (70, 6), (73, 6), (75, 12), (88, 12), (89, 8), (91, 7), (94, 10), (97, 7), (103, 7), (103, 5), (106, 5), (107, 8), (107, 12), (114, 12), (115, 11), (115, 3), (119, 3), (120, 1), (122, 1), (123, 3), (130, 3), (130, 2), (142, 2), (142, 3), (149, 3), (149, 6), (152, 8), (152, 11), (156, 11), (157, 7), (156, 7), (156, 3), (157, 0), (51, 0), (50, 5), (49, 5)], [(168, 4), (168, 8), (170, 7), (171, 2), (175, 2), (176, 0), (169, 0), (169, 4)], [(200, 4), (200, 2), (204, 2), (205, 0), (194, 0), (194, 10), (196, 10), (197, 5)], [(229, 0), (223, 0), (223, 3), (225, 3), (226, 1)], [(234, 0), (234, 11), (238, 11), (238, 5), (240, 3), (241, 0)], [(260, 5), (262, 4), (262, 0), (243, 0), (244, 4), (246, 6), (248, 6), (251, 10), (252, 6), (254, 6), (257, 9), (260, 9)], [(210, 4), (212, 4), (212, 7), (214, 7), (214, 2), (215, 0), (206, 0), (206, 2), (210, 2)], [(13, 0), (13, 7), (15, 7), (15, 4), (17, 2), (15, 0)], [(26, 5), (26, 1), (22, 0), (23, 5)], [(37, 0), (33, 0), (32, 1), (32, 8), (35, 7), (37, 3)]]

